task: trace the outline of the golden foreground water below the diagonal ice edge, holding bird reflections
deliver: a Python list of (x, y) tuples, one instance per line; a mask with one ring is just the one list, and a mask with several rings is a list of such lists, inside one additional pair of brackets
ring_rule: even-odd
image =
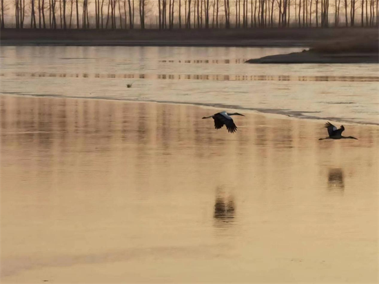
[(377, 126), (318, 141), (320, 121), (253, 112), (229, 134), (214, 108), (0, 102), (1, 283), (377, 280)]

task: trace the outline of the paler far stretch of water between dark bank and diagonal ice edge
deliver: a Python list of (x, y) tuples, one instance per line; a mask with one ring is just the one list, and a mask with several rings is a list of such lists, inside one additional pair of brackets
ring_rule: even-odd
[(379, 124), (378, 64), (244, 63), (303, 49), (1, 47), (1, 93), (195, 103)]

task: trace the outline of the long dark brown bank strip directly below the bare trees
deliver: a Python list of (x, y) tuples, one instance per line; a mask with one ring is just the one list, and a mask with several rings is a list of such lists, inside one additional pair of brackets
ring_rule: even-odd
[(309, 46), (336, 38), (370, 37), (376, 28), (253, 28), (249, 30), (3, 29), (0, 45)]

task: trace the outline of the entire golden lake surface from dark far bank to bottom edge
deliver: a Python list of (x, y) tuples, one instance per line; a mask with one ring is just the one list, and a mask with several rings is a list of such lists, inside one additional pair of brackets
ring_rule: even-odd
[(378, 66), (294, 50), (1, 48), (1, 284), (377, 283)]

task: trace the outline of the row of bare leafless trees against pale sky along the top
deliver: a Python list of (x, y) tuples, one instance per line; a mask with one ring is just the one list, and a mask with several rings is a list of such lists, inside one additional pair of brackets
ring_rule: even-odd
[(379, 26), (379, 0), (1, 0), (0, 28)]

